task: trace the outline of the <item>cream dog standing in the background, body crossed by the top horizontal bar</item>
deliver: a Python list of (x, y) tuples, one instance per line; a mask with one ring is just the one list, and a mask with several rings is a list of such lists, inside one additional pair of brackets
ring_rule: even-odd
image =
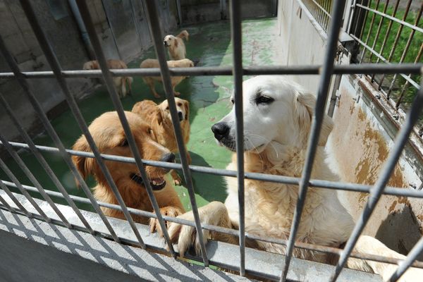
[[(192, 68), (194, 63), (192, 63), (189, 59), (182, 59), (178, 61), (167, 61), (167, 65), (169, 68)], [(141, 62), (140, 68), (159, 68), (159, 61), (157, 61), (157, 59), (145, 59)], [(185, 76), (171, 76), (172, 90), (176, 96), (179, 96), (180, 93), (175, 91), (175, 87), (184, 78)], [(148, 85), (149, 89), (154, 94), (154, 97), (160, 98), (160, 95), (156, 92), (156, 88), (154, 87), (154, 82), (161, 82), (161, 76), (143, 76), (142, 80), (144, 80), (145, 84)]]

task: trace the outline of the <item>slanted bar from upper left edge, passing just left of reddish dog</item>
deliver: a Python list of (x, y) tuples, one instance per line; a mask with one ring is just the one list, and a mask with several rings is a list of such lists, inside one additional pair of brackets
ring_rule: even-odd
[(56, 131), (54, 130), (53, 126), (51, 125), (49, 118), (47, 118), (47, 115), (44, 114), (44, 110), (42, 109), (41, 104), (37, 101), (35, 98), (35, 95), (30, 90), (30, 85), (28, 85), (27, 81), (25, 80), (25, 76), (23, 73), (20, 72), (18, 64), (13, 59), (13, 56), (6, 48), (6, 45), (4, 44), (3, 37), (0, 35), (0, 51), (1, 54), (3, 54), (4, 59), (6, 59), (6, 62), (8, 63), (8, 66), (13, 71), (13, 74), (15, 75), (16, 80), (18, 80), (20, 87), (23, 89), (23, 93), (27, 97), (27, 99), (32, 104), (33, 108), (35, 109), (35, 112), (38, 114), (40, 120), (42, 121), (42, 124), (44, 125), (44, 128), (47, 130), (47, 133), (53, 140), (56, 147), (61, 152), (61, 157), (64, 159), (68, 167), (71, 169), (73, 176), (75, 176), (78, 183), (80, 183), (82, 190), (84, 190), (85, 195), (90, 199), (90, 202), (92, 203), (92, 207), (94, 207), (97, 214), (99, 214), (100, 218), (102, 219), (104, 225), (109, 230), (111, 236), (114, 238), (114, 240), (117, 243), (121, 243), (121, 240), (116, 235), (114, 229), (111, 227), (109, 221), (106, 219), (106, 216), (104, 216), (102, 209), (100, 209), (99, 205), (97, 204), (96, 200), (94, 199), (94, 196), (92, 195), (92, 192), (90, 191), (90, 188), (88, 188), (87, 183), (85, 183), (85, 180), (80, 175), (78, 169), (75, 167), (75, 165), (72, 162), (71, 157), (66, 152), (65, 147), (63, 146), (63, 143), (60, 140), (59, 135), (57, 135)]

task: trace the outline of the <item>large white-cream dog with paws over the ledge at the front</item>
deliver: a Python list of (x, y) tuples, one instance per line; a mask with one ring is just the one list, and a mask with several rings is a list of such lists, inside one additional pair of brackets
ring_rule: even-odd
[[(232, 102), (233, 97), (232, 97)], [(315, 98), (290, 80), (277, 75), (257, 76), (243, 82), (245, 171), (300, 178), (305, 164), (307, 139), (312, 123)], [(325, 116), (312, 178), (336, 181), (338, 177), (326, 164), (324, 145), (333, 127)], [(235, 110), (213, 125), (214, 137), (231, 151), (235, 151)], [(236, 171), (235, 154), (227, 167)], [(225, 203), (211, 202), (200, 208), (203, 224), (237, 229), (239, 225), (238, 185), (236, 178), (226, 178), (228, 197)], [(298, 199), (298, 186), (245, 179), (245, 231), (262, 237), (288, 239), (293, 213)], [(192, 212), (178, 216), (193, 221)], [(352, 216), (338, 200), (336, 191), (310, 187), (305, 200), (297, 240), (304, 243), (339, 247), (348, 240), (354, 227)], [(181, 255), (192, 245), (200, 252), (195, 228), (171, 223), (169, 234), (178, 243)], [(203, 231), (204, 238), (238, 243), (221, 233)], [(269, 252), (285, 253), (285, 246), (262, 241), (247, 246)], [(378, 255), (403, 258), (378, 240), (361, 236), (355, 250)], [(294, 255), (317, 262), (329, 262), (322, 253), (295, 249)], [(396, 266), (379, 262), (350, 259), (348, 266), (374, 271), (384, 278)], [(407, 275), (410, 276), (407, 278)], [(413, 278), (414, 277), (414, 278)], [(402, 281), (419, 281), (422, 269), (410, 269)]]

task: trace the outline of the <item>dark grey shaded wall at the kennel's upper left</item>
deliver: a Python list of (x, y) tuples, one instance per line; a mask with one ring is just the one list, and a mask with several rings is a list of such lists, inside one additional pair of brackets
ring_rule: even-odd
[[(139, 56), (142, 50), (152, 46), (142, 1), (132, 3), (135, 13), (130, 0), (87, 1), (107, 59), (121, 58), (123, 61), (130, 61)], [(82, 64), (90, 60), (90, 56), (68, 1), (35, 0), (31, 4), (61, 67), (65, 70), (82, 68)], [(176, 4), (173, 1), (160, 1), (159, 13), (164, 32), (174, 30), (177, 21)], [(21, 71), (50, 70), (19, 1), (0, 0), (0, 26), (1, 37)], [(0, 71), (10, 71), (1, 55)], [(44, 111), (51, 118), (63, 111), (64, 95), (54, 79), (28, 81)], [(85, 78), (71, 79), (68, 80), (68, 86), (75, 97), (80, 98), (90, 92), (93, 82)], [(24, 127), (32, 133), (39, 132), (41, 125), (18, 83), (14, 79), (0, 80), (0, 93), (11, 104)], [(11, 121), (3, 110), (0, 110), (0, 121), (1, 132), (9, 140), (16, 140), (18, 132), (10, 126)]]

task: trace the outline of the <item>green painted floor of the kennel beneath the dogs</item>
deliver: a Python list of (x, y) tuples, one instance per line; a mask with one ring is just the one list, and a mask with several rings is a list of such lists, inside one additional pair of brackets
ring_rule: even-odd
[[(271, 65), (276, 62), (274, 56), (277, 54), (278, 44), (276, 43), (276, 18), (264, 18), (259, 20), (243, 21), (243, 63), (250, 65)], [(230, 66), (232, 63), (232, 44), (229, 23), (226, 21), (205, 23), (185, 27), (190, 33), (190, 41), (186, 43), (188, 59), (198, 60), (198, 66)], [(177, 32), (175, 32), (177, 33)], [(147, 58), (154, 58), (154, 49), (149, 49), (142, 58), (129, 63), (130, 68), (137, 68), (140, 61)], [(206, 76), (190, 77), (185, 79), (176, 87), (181, 93), (181, 98), (190, 101), (190, 123), (191, 135), (188, 150), (192, 157), (192, 164), (197, 166), (210, 166), (214, 168), (225, 168), (231, 160), (231, 153), (223, 147), (216, 145), (212, 130), (210, 128), (216, 121), (219, 121), (231, 109), (229, 97), (233, 90), (233, 78), (231, 76)], [(164, 92), (161, 85), (157, 84), (157, 91), (162, 99), (154, 99), (149, 89), (141, 78), (135, 78), (133, 82), (133, 96), (122, 99), (125, 110), (130, 111), (133, 104), (142, 99), (153, 99), (161, 102), (164, 99)], [(104, 87), (101, 87), (94, 94), (79, 103), (85, 121), (90, 123), (94, 118), (114, 109), (109, 95)], [(65, 111), (61, 116), (51, 121), (56, 132), (61, 137), (64, 145), (71, 148), (75, 140), (80, 136), (81, 131), (73, 118), (71, 111)], [(47, 135), (35, 138), (35, 144), (53, 146)], [(43, 153), (54, 172), (59, 177), (68, 192), (73, 195), (85, 197), (82, 190), (77, 189), (73, 175), (69, 171), (63, 159), (56, 154)], [(56, 190), (48, 176), (31, 154), (21, 153), (27, 166), (37, 177), (43, 187), (49, 190)], [(8, 159), (9, 168), (15, 173), (23, 184), (32, 185), (12, 159)], [(197, 204), (202, 206), (213, 200), (223, 201), (226, 198), (225, 183), (220, 176), (212, 176), (204, 173), (193, 173), (193, 181)], [(8, 178), (0, 171), (1, 179)], [(89, 179), (90, 187), (94, 181)], [(190, 202), (187, 189), (183, 186), (176, 187), (178, 195), (183, 204), (190, 209)], [(40, 197), (33, 194), (34, 197)], [(64, 203), (63, 200), (54, 199), (55, 202)], [(82, 209), (91, 207), (79, 204)]]

